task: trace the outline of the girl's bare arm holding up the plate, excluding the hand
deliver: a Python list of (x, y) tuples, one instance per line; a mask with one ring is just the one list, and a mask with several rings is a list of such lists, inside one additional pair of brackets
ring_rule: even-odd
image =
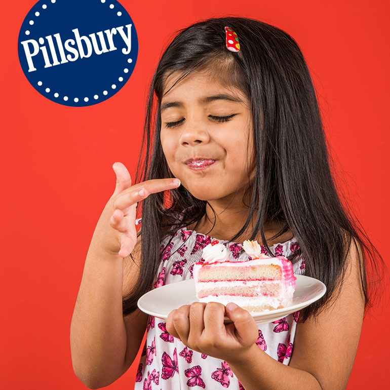
[(344, 389), (355, 361), (364, 314), (356, 245), (348, 253), (340, 294), (318, 320), (297, 324), (289, 366), (266, 355), (257, 345), (238, 360), (227, 361), (245, 390)]

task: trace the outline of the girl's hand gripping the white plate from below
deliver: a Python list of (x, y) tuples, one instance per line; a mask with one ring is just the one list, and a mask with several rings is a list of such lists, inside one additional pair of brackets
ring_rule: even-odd
[[(233, 321), (223, 324), (223, 318)], [(240, 360), (253, 346), (258, 328), (249, 312), (235, 303), (194, 302), (172, 310), (167, 331), (188, 348), (225, 361)]]

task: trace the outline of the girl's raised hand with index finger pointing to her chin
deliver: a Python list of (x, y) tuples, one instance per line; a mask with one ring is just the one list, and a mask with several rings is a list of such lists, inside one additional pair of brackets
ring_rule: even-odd
[(112, 169), (116, 174), (115, 190), (99, 218), (88, 252), (99, 256), (101, 251), (106, 251), (126, 257), (137, 242), (137, 203), (147, 198), (150, 193), (178, 187), (180, 180), (154, 179), (132, 186), (129, 171), (122, 163), (115, 163)]

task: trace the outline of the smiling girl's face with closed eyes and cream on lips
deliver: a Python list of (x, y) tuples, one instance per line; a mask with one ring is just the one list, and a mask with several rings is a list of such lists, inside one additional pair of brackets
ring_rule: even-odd
[[(177, 77), (168, 78), (164, 93)], [(236, 199), (242, 199), (255, 165), (249, 104), (240, 90), (223, 88), (201, 72), (187, 76), (163, 96), (164, 154), (173, 175), (194, 197), (229, 200), (237, 192)]]

